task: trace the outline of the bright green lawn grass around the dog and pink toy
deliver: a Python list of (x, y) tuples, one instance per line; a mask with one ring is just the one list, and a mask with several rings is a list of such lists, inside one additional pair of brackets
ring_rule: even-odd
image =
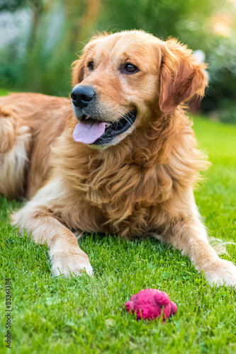
[[(198, 207), (211, 236), (236, 241), (236, 127), (196, 118), (194, 129), (213, 163), (196, 191)], [(6, 278), (12, 287), (11, 353), (236, 353), (235, 292), (209, 287), (179, 251), (154, 239), (87, 236), (79, 245), (94, 277), (52, 278), (47, 247), (20, 238), (9, 224), (17, 203), (0, 203), (0, 353), (8, 353)], [(227, 251), (224, 258), (236, 263), (236, 246)], [(146, 287), (166, 291), (178, 305), (166, 324), (137, 322), (125, 313), (130, 295)]]

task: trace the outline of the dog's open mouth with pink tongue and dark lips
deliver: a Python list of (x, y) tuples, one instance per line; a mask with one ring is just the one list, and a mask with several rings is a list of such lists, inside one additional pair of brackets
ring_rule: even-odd
[(82, 117), (84, 120), (74, 128), (74, 141), (95, 145), (108, 144), (114, 137), (126, 132), (136, 117), (136, 111), (128, 112), (116, 122), (102, 122), (89, 116)]

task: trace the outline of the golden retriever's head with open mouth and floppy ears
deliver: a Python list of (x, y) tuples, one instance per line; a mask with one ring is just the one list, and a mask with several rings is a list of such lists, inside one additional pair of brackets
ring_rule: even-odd
[(97, 36), (73, 65), (74, 139), (108, 147), (171, 115), (191, 96), (203, 96), (204, 68), (174, 39), (142, 31)]

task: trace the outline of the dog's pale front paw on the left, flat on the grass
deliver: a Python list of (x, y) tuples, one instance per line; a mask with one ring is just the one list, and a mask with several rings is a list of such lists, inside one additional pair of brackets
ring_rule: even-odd
[(80, 250), (78, 253), (72, 251), (50, 252), (52, 263), (52, 274), (64, 275), (64, 277), (74, 277), (87, 273), (92, 275), (93, 269), (89, 262), (89, 257)]

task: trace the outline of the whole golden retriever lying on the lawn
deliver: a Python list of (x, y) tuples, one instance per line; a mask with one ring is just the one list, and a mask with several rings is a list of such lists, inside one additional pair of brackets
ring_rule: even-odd
[(193, 197), (208, 162), (184, 103), (203, 96), (206, 66), (140, 30), (97, 35), (72, 65), (72, 101), (0, 99), (0, 193), (29, 199), (13, 225), (47, 242), (54, 275), (92, 274), (74, 232), (154, 235), (210, 285), (235, 287), (236, 267), (210, 246)]

